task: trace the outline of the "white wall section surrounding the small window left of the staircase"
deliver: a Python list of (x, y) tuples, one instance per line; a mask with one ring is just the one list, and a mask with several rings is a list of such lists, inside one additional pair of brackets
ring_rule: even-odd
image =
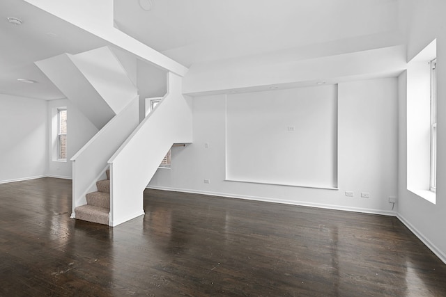
[[(52, 109), (62, 106), (67, 107), (67, 161), (56, 161), (52, 158), (52, 127), (50, 123), (52, 122)], [(49, 123), (47, 132), (49, 135), (47, 176), (70, 179), (72, 177), (71, 157), (98, 132), (98, 128), (68, 99), (49, 101), (47, 111), (45, 111), (45, 117), (46, 114), (47, 118), (45, 120)]]

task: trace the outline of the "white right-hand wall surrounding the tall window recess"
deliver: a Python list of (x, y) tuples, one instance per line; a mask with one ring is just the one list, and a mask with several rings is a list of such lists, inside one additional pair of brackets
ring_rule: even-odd
[[(446, 79), (446, 2), (443, 0), (407, 1), (410, 8), (408, 61), (437, 38), (438, 81)], [(411, 18), (410, 18), (411, 17)], [(399, 218), (446, 262), (446, 95), (444, 83), (438, 83), (437, 191), (433, 204), (407, 190), (407, 74), (399, 77)]]

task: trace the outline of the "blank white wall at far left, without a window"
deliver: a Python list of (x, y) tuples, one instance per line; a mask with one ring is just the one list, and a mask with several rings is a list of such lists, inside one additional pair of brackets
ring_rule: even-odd
[(47, 102), (0, 94), (0, 183), (44, 177)]

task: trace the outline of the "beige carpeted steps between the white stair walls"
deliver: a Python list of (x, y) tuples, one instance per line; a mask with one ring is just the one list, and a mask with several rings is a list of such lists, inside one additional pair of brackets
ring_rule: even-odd
[(97, 192), (86, 194), (86, 204), (75, 208), (78, 220), (109, 225), (110, 212), (110, 171), (106, 171), (107, 179), (96, 182)]

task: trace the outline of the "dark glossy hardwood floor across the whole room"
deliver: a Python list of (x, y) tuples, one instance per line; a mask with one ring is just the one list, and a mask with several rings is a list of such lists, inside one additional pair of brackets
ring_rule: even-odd
[(446, 265), (393, 217), (146, 190), (111, 228), (70, 219), (52, 178), (0, 203), (0, 296), (446, 296)]

